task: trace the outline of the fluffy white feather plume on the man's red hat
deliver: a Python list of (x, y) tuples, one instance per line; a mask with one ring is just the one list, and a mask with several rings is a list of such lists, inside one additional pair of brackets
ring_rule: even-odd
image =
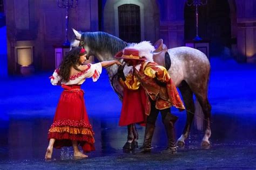
[(138, 44), (132, 43), (126, 48), (133, 48), (133, 49), (138, 49), (139, 51), (139, 56), (140, 57), (145, 57), (147, 60), (146, 61), (152, 61), (153, 62), (153, 51), (154, 51), (154, 46), (150, 43), (150, 41), (142, 41), (139, 42)]

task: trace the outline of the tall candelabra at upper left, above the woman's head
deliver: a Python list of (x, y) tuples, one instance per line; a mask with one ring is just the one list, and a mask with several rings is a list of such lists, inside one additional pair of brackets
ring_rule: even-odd
[(68, 27), (69, 27), (69, 9), (75, 9), (77, 8), (77, 4), (78, 4), (78, 0), (76, 0), (76, 2), (74, 3), (74, 0), (62, 0), (62, 1), (59, 1), (58, 0), (58, 7), (59, 8), (64, 8), (66, 9), (66, 41), (64, 42), (64, 46), (70, 46), (70, 42), (69, 42), (69, 39), (68, 39)]

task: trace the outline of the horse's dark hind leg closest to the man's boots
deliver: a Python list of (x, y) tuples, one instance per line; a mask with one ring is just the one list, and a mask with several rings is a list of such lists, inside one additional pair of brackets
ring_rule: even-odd
[[(195, 108), (194, 108), (194, 101), (193, 101), (193, 91), (190, 89), (190, 87), (185, 81), (182, 82), (181, 86), (179, 87), (179, 90), (183, 97), (186, 110), (194, 113)], [(188, 111), (186, 112), (187, 114), (186, 125), (184, 127), (183, 133), (181, 134), (180, 138), (177, 141), (177, 145), (179, 147), (183, 147), (185, 145), (185, 139), (187, 139), (188, 134), (190, 133), (191, 124), (194, 118), (194, 115)]]

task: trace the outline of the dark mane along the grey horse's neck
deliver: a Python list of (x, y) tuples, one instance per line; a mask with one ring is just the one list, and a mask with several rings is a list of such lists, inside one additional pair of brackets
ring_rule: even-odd
[(106, 32), (85, 32), (84, 41), (90, 50), (97, 52), (109, 51), (112, 55), (127, 46), (127, 43)]

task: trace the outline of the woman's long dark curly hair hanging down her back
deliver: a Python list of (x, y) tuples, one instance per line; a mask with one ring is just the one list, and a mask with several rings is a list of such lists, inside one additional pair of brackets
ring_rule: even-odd
[(68, 54), (65, 55), (65, 58), (59, 65), (59, 75), (62, 77), (61, 81), (68, 82), (70, 77), (70, 69), (71, 67), (75, 68), (78, 71), (81, 71), (77, 68), (79, 64), (79, 53), (82, 47), (72, 48)]

